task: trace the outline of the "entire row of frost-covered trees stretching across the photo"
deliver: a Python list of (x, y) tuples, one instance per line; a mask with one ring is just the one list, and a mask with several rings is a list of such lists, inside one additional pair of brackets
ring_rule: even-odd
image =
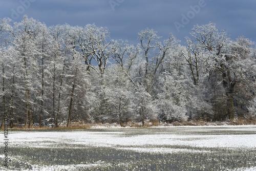
[(4, 115), (25, 127), (255, 117), (253, 42), (213, 23), (188, 35), (181, 46), (145, 29), (135, 46), (95, 25), (0, 19), (2, 126)]

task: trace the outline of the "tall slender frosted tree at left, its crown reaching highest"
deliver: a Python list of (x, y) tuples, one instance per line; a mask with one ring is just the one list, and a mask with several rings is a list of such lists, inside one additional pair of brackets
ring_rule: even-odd
[(37, 91), (40, 86), (35, 77), (38, 63), (36, 59), (39, 56), (39, 51), (36, 46), (37, 36), (40, 33), (39, 22), (33, 18), (28, 18), (26, 15), (20, 23), (14, 24), (12, 35), (14, 36), (14, 46), (18, 51), (18, 57), (23, 59), (22, 74), (24, 76), (23, 89), (25, 93), (26, 103), (26, 122), (29, 127), (32, 125), (32, 112), (34, 111), (34, 96), (39, 94)]

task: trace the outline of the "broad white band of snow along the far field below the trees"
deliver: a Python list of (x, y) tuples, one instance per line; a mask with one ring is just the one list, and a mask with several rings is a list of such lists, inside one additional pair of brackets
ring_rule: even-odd
[[(196, 126), (164, 129), (124, 129), (118, 131), (94, 132), (10, 132), (10, 146), (24, 147), (54, 147), (60, 144), (84, 145), (84, 146), (164, 146), (164, 145), (185, 145), (193, 147), (227, 147), (227, 148), (255, 148), (256, 147), (256, 126), (227, 126), (228, 129), (214, 126)], [(154, 132), (155, 131), (155, 132)], [(205, 132), (202, 135), (189, 132)], [(223, 135), (211, 132), (218, 131)], [(226, 131), (250, 132), (246, 135), (225, 134)], [(142, 134), (143, 133), (143, 134)], [(147, 134), (148, 133), (148, 134)], [(255, 134), (254, 134), (255, 133)]]

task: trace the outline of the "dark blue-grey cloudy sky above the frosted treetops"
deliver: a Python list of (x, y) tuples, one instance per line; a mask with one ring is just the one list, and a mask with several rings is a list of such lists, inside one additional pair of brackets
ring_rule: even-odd
[(107, 27), (112, 39), (133, 44), (145, 28), (163, 38), (173, 33), (183, 44), (194, 25), (209, 22), (233, 39), (256, 41), (255, 0), (0, 0), (0, 18), (19, 22), (24, 14), (48, 26), (94, 23)]

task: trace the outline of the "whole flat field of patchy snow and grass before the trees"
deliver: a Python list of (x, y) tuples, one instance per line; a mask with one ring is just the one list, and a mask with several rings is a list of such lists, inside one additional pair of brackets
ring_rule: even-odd
[(256, 126), (11, 131), (9, 156), (4, 170), (256, 170)]

